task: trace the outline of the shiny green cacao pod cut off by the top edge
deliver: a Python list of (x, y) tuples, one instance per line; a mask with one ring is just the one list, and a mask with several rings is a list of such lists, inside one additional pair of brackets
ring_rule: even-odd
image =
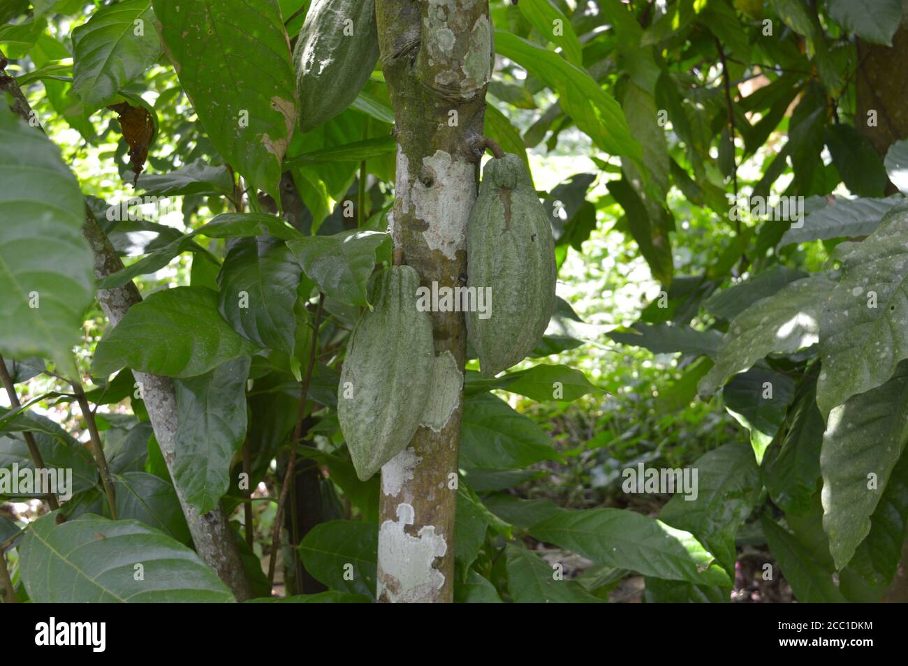
[(293, 53), (300, 129), (350, 106), (378, 60), (375, 0), (315, 0)]

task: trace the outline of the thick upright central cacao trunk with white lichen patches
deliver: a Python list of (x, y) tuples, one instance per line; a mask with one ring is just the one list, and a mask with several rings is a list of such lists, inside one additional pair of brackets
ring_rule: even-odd
[[(479, 180), (493, 63), (488, 0), (377, 0), (382, 69), (395, 113), (395, 246), (421, 284), (466, 285), (466, 232)], [(463, 368), (459, 312), (433, 312), (436, 355)], [(380, 602), (451, 602), (462, 406), (440, 430), (420, 427), (381, 471)]]

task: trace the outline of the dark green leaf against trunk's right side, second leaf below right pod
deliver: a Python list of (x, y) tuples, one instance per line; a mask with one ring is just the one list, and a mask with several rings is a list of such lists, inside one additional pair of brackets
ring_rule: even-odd
[(558, 460), (558, 452), (536, 423), (489, 393), (464, 401), (461, 466), (519, 469), (543, 460)]

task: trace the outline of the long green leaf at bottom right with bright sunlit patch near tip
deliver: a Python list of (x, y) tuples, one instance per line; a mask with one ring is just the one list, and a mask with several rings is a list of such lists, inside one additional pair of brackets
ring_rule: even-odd
[(693, 534), (634, 511), (562, 511), (529, 529), (595, 563), (647, 576), (700, 584), (730, 585), (728, 574)]

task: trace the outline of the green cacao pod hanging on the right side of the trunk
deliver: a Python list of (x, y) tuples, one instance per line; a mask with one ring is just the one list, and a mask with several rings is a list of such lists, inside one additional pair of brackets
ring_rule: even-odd
[(510, 153), (489, 160), (467, 231), (467, 286), (491, 296), (487, 312), (466, 313), (483, 375), (533, 350), (555, 309), (555, 279), (552, 229), (526, 165)]

